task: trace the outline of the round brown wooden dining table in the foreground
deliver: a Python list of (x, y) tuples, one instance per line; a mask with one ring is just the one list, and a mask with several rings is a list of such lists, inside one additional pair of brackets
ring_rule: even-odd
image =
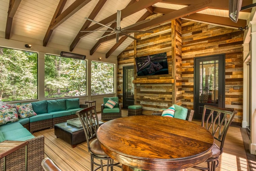
[(102, 149), (124, 171), (185, 170), (212, 156), (213, 135), (198, 124), (178, 118), (137, 115), (101, 125)]

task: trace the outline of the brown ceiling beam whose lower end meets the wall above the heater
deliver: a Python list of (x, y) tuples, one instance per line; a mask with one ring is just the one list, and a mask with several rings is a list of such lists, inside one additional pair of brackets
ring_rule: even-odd
[[(101, 10), (101, 8), (103, 7), (103, 5), (106, 3), (107, 0), (99, 0), (99, 2), (96, 4), (96, 6), (94, 7), (94, 9), (92, 10), (91, 14), (88, 16), (89, 19), (93, 20), (96, 15), (99, 13), (99, 11)], [(77, 33), (77, 35), (75, 36), (74, 40), (72, 41), (71, 45), (69, 46), (69, 51), (72, 52), (76, 46), (76, 44), (78, 43), (78, 41), (81, 39), (79, 37), (79, 33), (81, 31), (84, 31), (86, 28), (88, 28), (90, 26), (92, 22), (90, 20), (86, 20), (86, 22), (84, 23), (84, 25), (82, 26), (82, 28), (80, 29), (80, 31)]]

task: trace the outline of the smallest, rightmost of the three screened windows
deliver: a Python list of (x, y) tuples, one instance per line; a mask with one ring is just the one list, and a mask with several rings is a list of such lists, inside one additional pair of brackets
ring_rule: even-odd
[(114, 93), (114, 64), (92, 61), (91, 93)]

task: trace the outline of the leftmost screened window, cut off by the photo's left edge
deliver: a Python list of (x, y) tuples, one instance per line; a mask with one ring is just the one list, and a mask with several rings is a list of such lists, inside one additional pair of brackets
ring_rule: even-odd
[(0, 100), (37, 99), (37, 53), (0, 47)]

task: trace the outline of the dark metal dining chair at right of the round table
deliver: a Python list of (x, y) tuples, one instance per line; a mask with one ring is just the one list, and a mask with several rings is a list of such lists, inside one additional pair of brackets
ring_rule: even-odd
[[(205, 114), (208, 114), (205, 119)], [(228, 128), (237, 112), (234, 110), (223, 109), (215, 106), (204, 105), (203, 117), (202, 117), (202, 127), (210, 131), (215, 140), (220, 142), (220, 146), (214, 143), (212, 149), (212, 157), (207, 159), (207, 168), (202, 168), (194, 166), (194, 168), (199, 170), (209, 170), (215, 171), (216, 167), (219, 165), (219, 157), (223, 152), (223, 146), (225, 137), (227, 135)], [(214, 117), (214, 115), (216, 115)]]

